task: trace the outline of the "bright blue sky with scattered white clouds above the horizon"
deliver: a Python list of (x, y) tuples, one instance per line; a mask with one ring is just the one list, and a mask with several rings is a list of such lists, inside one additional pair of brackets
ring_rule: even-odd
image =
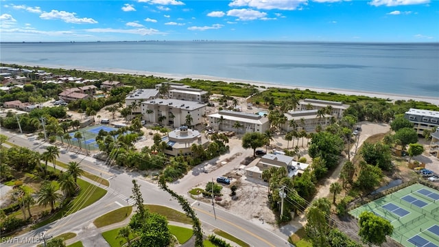
[(436, 0), (0, 0), (0, 42), (439, 42)]

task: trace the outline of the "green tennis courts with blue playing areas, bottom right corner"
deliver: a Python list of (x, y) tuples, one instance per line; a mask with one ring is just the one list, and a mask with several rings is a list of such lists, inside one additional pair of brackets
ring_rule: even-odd
[(403, 246), (439, 247), (439, 191), (414, 184), (369, 202), (349, 213), (370, 211), (389, 220), (392, 239)]

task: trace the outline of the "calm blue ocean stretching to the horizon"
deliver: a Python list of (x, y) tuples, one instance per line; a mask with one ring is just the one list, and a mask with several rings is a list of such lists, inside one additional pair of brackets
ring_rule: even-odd
[(439, 43), (1, 43), (0, 61), (439, 97)]

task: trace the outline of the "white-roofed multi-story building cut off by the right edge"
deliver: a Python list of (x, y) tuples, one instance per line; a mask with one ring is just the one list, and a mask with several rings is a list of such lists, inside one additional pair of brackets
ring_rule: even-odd
[(439, 126), (439, 111), (410, 108), (404, 117), (414, 124), (414, 129), (418, 134), (423, 134), (424, 130), (432, 130)]

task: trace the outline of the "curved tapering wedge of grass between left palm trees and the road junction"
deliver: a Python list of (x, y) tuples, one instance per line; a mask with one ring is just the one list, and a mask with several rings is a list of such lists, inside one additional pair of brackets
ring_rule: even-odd
[[(66, 207), (60, 209), (60, 211), (56, 212), (54, 215), (51, 215), (51, 217), (39, 222), (38, 224), (35, 224), (32, 228), (40, 228), (41, 226), (45, 226), (46, 224), (59, 220), (60, 218), (71, 213), (80, 211), (81, 209), (84, 209), (85, 207), (95, 203), (107, 193), (105, 189), (92, 185), (91, 183), (88, 183), (80, 178), (78, 178), (78, 185), (81, 187), (81, 191), (78, 196), (75, 197), (75, 199), (73, 199)], [(91, 191), (93, 191), (93, 193), (90, 195), (89, 193)]]

